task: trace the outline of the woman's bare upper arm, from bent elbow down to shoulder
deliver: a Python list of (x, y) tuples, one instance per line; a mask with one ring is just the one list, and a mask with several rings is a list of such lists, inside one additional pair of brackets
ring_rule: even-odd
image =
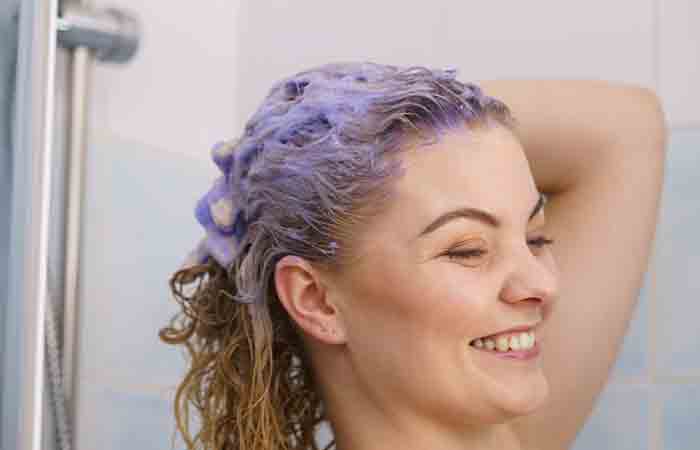
[(590, 169), (549, 195), (545, 231), (556, 241), (560, 295), (542, 333), (549, 402), (513, 422), (525, 449), (572, 444), (636, 306), (658, 221), (667, 135), (656, 96), (636, 92), (627, 105), (632, 117), (621, 118), (627, 125), (591, 153), (597, 159)]

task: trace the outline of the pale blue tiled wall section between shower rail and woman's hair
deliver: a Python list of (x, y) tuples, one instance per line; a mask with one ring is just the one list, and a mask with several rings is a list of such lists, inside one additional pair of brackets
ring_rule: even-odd
[(76, 449), (166, 449), (183, 355), (158, 330), (178, 310), (168, 278), (200, 238), (192, 205), (214, 173), (143, 143), (90, 141)]

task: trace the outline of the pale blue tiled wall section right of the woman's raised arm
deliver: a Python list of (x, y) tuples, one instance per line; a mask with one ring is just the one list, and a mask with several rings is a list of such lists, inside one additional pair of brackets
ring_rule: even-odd
[(673, 129), (651, 270), (611, 381), (575, 450), (608, 442), (616, 449), (700, 446), (700, 283), (693, 276), (700, 267), (699, 189), (700, 127)]

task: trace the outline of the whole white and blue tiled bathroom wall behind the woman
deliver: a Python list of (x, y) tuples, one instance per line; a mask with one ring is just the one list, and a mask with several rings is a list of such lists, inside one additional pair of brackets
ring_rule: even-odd
[(157, 331), (176, 310), (168, 276), (200, 236), (192, 209), (216, 175), (209, 149), (279, 77), (357, 59), (454, 66), (463, 80), (619, 80), (661, 96), (671, 136), (654, 258), (573, 448), (695, 448), (700, 4), (95, 2), (115, 3), (140, 16), (144, 38), (132, 63), (93, 76), (76, 449), (170, 448), (183, 363)]

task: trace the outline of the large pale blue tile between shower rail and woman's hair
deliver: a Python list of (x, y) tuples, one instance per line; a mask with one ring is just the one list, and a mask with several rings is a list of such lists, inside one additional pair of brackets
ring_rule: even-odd
[(78, 375), (174, 383), (183, 350), (158, 330), (179, 310), (168, 279), (202, 236), (193, 209), (213, 176), (204, 162), (138, 143), (95, 139), (90, 150)]

